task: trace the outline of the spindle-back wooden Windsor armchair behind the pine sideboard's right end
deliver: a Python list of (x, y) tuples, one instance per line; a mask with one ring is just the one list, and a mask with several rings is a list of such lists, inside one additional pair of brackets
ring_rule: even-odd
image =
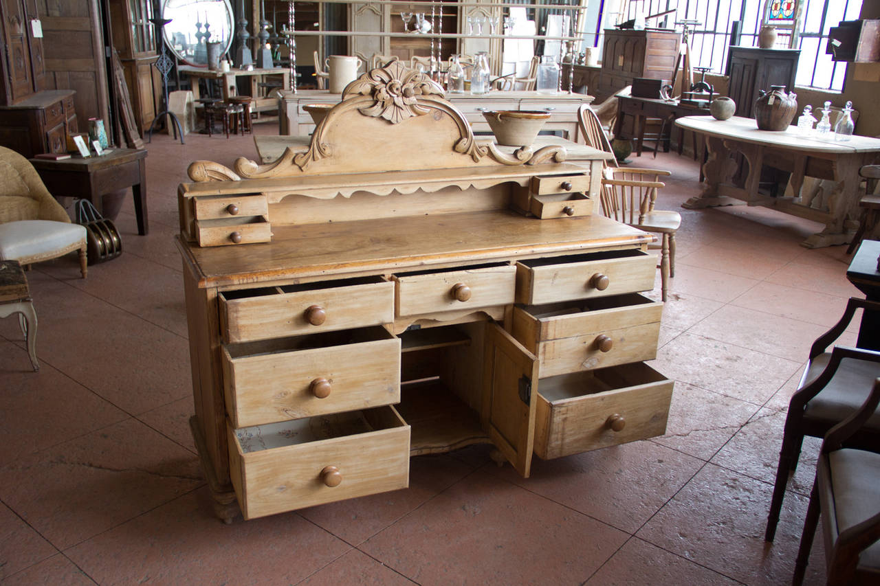
[[(587, 144), (594, 149), (612, 152), (605, 130), (590, 106), (584, 104), (577, 114)], [(660, 178), (669, 175), (670, 172), (660, 169), (624, 169), (617, 165), (616, 159), (606, 159), (601, 191), (605, 216), (661, 235), (660, 295), (664, 301), (669, 292), (669, 280), (675, 276), (675, 232), (681, 225), (678, 212), (654, 209), (657, 190), (665, 186)]]

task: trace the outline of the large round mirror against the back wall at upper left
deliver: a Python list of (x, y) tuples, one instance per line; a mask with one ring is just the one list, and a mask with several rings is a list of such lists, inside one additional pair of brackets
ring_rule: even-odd
[(235, 18), (229, 0), (163, 0), (165, 45), (189, 65), (206, 67), (206, 42), (220, 42), (220, 55), (229, 51)]

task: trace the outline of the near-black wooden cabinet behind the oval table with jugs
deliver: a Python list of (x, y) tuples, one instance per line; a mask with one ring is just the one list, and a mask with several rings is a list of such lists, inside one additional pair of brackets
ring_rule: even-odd
[(737, 103), (736, 115), (752, 118), (759, 90), (769, 91), (771, 85), (794, 91), (800, 55), (800, 49), (731, 47), (726, 75), (730, 76), (730, 99)]

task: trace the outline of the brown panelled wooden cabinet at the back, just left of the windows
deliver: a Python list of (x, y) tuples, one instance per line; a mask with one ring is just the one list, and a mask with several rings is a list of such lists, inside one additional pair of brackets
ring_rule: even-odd
[(672, 31), (605, 29), (597, 99), (632, 85), (635, 77), (670, 79), (680, 42), (681, 35)]

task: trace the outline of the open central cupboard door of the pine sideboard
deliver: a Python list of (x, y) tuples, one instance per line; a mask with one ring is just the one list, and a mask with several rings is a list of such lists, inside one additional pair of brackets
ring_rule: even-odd
[(501, 327), (486, 331), (483, 417), (489, 437), (524, 478), (532, 468), (538, 359)]

